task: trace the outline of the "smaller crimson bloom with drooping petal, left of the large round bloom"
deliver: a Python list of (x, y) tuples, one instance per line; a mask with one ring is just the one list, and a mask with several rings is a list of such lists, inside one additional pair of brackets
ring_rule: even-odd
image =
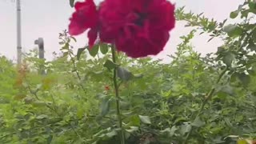
[(82, 34), (87, 29), (89, 46), (92, 47), (98, 34), (98, 10), (93, 0), (76, 2), (75, 12), (70, 18), (69, 33), (71, 35)]

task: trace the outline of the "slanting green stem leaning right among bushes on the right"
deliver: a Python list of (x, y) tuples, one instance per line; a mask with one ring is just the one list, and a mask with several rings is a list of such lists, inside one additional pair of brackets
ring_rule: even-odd
[[(225, 70), (222, 71), (222, 73), (218, 76), (218, 80), (216, 82), (216, 84), (218, 84), (218, 82), (220, 82), (220, 80), (222, 79), (223, 75), (226, 73), (227, 68), (225, 68)], [(206, 98), (204, 99), (204, 101), (202, 102), (202, 106), (200, 108), (200, 110), (198, 111), (197, 116), (194, 118), (194, 121), (200, 117), (200, 115), (202, 114), (202, 111), (204, 110), (206, 103), (210, 100), (210, 98), (212, 98), (212, 96), (214, 95), (215, 92), (215, 87), (212, 88), (210, 90), (210, 92), (206, 95)], [(186, 138), (184, 140), (184, 142), (182, 142), (183, 144), (186, 144), (186, 142), (189, 140), (190, 138), (190, 134), (192, 133), (193, 128), (190, 129), (190, 131), (188, 132), (188, 134), (186, 134)]]

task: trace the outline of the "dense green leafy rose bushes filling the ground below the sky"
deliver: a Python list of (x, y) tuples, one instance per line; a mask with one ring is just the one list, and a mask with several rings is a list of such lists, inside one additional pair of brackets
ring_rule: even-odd
[[(127, 58), (99, 43), (78, 49), (66, 31), (54, 61), (26, 54), (21, 67), (0, 58), (1, 143), (253, 143), (256, 138), (256, 3), (246, 0), (215, 22), (176, 10), (193, 27), (171, 62)], [(198, 34), (221, 38), (202, 57), (190, 45)], [(217, 47), (216, 47), (217, 49)], [(89, 56), (90, 55), (90, 56)], [(46, 74), (42, 74), (46, 70)], [(117, 70), (117, 82), (113, 72)], [(114, 83), (118, 83), (120, 107)], [(118, 115), (119, 111), (120, 115)]]

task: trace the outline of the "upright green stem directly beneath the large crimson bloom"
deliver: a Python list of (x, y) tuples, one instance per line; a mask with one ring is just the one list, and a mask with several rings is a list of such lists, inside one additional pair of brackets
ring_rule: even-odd
[[(111, 47), (111, 51), (112, 51), (112, 60), (114, 63), (116, 63), (116, 55), (115, 55), (115, 50), (114, 50), (114, 46)], [(117, 108), (117, 116), (118, 116), (118, 126), (121, 130), (121, 134), (120, 134), (120, 140), (121, 140), (121, 144), (125, 144), (125, 134), (124, 131), (122, 130), (122, 114), (121, 114), (121, 110), (120, 110), (120, 97), (119, 97), (119, 91), (118, 91), (118, 82), (117, 82), (117, 68), (114, 68), (114, 72), (113, 72), (113, 82), (114, 82), (114, 91), (115, 91), (115, 98), (116, 98), (116, 108)]]

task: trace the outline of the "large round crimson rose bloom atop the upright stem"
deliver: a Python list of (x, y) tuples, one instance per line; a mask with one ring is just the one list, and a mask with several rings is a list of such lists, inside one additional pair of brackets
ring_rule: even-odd
[(174, 28), (174, 5), (167, 0), (105, 0), (99, 9), (100, 39), (132, 58), (158, 54)]

